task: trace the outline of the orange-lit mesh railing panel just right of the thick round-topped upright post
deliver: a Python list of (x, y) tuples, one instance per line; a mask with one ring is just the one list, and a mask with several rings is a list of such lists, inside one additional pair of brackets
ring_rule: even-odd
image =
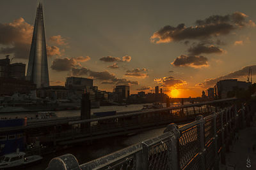
[(179, 138), (180, 168), (184, 168), (199, 152), (199, 125), (181, 132)]

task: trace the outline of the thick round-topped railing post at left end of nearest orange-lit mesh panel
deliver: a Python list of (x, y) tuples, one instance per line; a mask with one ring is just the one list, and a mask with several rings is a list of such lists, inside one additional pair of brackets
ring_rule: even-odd
[(180, 157), (179, 157), (179, 138), (180, 138), (180, 132), (178, 130), (178, 125), (176, 124), (169, 124), (166, 129), (164, 130), (164, 133), (165, 132), (173, 132), (173, 136), (171, 138), (171, 152), (168, 152), (169, 154), (169, 157), (170, 157), (170, 162), (171, 165), (170, 167), (172, 167), (171, 169), (180, 169)]

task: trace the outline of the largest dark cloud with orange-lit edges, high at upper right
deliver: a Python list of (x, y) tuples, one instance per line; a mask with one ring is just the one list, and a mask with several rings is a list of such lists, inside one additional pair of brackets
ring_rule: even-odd
[(205, 20), (196, 20), (195, 27), (186, 27), (185, 24), (179, 24), (177, 27), (166, 25), (154, 32), (150, 39), (154, 43), (169, 43), (171, 41), (202, 40), (212, 36), (225, 35), (234, 29), (247, 25), (255, 26), (255, 23), (252, 20), (246, 20), (246, 17), (248, 16), (244, 13), (235, 12), (232, 15), (212, 15)]

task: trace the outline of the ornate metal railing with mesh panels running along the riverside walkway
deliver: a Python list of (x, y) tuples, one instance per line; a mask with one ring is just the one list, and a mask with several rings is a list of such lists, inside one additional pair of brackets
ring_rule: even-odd
[(170, 124), (164, 134), (79, 165), (71, 154), (51, 160), (50, 169), (212, 169), (225, 163), (234, 134), (250, 124), (254, 110), (244, 104), (198, 115), (194, 122)]

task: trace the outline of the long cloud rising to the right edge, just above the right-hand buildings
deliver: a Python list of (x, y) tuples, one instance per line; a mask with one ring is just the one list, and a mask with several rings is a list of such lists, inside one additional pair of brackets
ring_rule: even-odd
[(204, 82), (198, 83), (198, 86), (204, 87), (204, 88), (213, 87), (220, 80), (246, 77), (246, 76), (248, 76), (248, 72), (249, 72), (250, 67), (252, 68), (252, 74), (256, 75), (256, 65), (246, 66), (246, 67), (243, 67), (243, 68), (241, 68), (237, 71), (226, 74), (224, 76), (220, 76), (220, 77), (217, 77), (217, 78), (208, 78)]

